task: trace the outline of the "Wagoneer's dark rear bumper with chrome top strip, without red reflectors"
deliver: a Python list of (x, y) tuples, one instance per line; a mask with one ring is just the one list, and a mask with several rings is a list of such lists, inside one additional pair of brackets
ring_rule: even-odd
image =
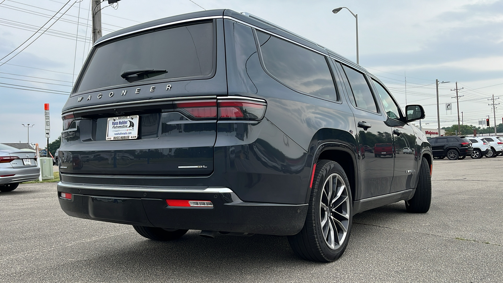
[[(307, 204), (241, 201), (225, 187), (140, 187), (59, 182), (69, 216), (130, 225), (269, 235), (294, 235), (304, 225)], [(213, 207), (168, 206), (166, 199), (209, 200)]]

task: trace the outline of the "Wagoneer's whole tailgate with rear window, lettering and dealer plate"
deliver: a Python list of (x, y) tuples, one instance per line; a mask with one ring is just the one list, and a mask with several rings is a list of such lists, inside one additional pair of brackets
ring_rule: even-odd
[(224, 56), (222, 19), (98, 43), (63, 108), (60, 171), (211, 174)]

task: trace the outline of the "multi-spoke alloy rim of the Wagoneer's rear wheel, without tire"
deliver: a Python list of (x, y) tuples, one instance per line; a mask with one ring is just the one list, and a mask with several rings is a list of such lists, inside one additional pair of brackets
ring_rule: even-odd
[(331, 174), (323, 184), (320, 199), (321, 232), (330, 249), (338, 249), (348, 235), (349, 207), (348, 188), (337, 173)]

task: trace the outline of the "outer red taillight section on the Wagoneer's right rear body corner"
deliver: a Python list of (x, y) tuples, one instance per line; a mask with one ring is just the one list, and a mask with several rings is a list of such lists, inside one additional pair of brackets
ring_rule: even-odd
[(219, 100), (219, 120), (261, 120), (266, 113), (266, 103), (247, 100)]

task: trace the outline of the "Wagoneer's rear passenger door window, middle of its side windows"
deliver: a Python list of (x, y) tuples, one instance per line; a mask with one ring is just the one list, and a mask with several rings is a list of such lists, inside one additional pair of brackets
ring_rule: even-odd
[[(377, 113), (376, 101), (370, 91), (365, 76), (350, 67), (343, 65), (343, 68), (353, 92), (354, 102), (356, 103), (355, 106)], [(353, 99), (351, 100), (353, 102)]]

